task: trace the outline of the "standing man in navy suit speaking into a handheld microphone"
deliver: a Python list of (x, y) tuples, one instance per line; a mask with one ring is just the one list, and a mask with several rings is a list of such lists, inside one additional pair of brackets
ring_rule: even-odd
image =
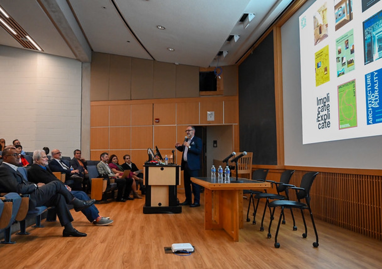
[[(183, 144), (176, 142), (175, 148), (182, 154), (181, 170), (183, 170), (183, 179), (185, 182), (186, 201), (180, 205), (189, 205), (190, 207), (200, 206), (200, 186), (191, 182), (191, 177), (199, 175), (200, 154), (202, 152), (202, 140), (195, 135), (195, 127), (187, 126), (187, 138)], [(192, 192), (191, 192), (192, 185)], [(194, 194), (194, 203), (192, 204), (192, 193)]]

